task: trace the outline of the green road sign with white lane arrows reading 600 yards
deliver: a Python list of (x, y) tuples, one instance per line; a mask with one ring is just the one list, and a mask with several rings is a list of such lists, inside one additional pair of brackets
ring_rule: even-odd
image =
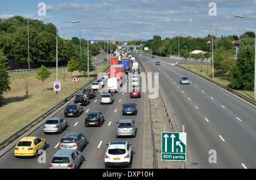
[(186, 160), (186, 132), (162, 132), (162, 156), (165, 161)]

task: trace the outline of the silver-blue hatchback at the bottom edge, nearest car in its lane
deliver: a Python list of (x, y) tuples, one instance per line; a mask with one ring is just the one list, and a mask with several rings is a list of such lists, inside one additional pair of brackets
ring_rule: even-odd
[(82, 163), (82, 153), (73, 149), (61, 149), (54, 153), (49, 169), (76, 169)]

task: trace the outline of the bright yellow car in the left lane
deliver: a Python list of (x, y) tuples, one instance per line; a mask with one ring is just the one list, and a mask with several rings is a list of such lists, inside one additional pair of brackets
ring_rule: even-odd
[(14, 148), (15, 157), (38, 157), (38, 152), (46, 149), (46, 140), (34, 136), (26, 136), (19, 140)]

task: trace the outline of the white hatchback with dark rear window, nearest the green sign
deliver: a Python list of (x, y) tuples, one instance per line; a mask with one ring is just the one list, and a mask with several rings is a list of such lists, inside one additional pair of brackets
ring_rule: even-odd
[(131, 167), (131, 156), (133, 144), (125, 141), (113, 141), (106, 144), (105, 168), (109, 166)]

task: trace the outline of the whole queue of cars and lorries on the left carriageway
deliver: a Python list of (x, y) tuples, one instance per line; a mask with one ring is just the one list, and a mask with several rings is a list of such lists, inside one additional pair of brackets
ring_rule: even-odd
[[(113, 56), (114, 57), (114, 56)], [(121, 61), (118, 60), (121, 59)], [(83, 112), (83, 106), (89, 105), (89, 99), (95, 98), (95, 91), (100, 91), (106, 88), (107, 92), (101, 93), (100, 104), (113, 104), (114, 92), (119, 92), (121, 86), (126, 83), (127, 79), (124, 74), (129, 73), (128, 79), (131, 80), (130, 98), (141, 97), (139, 89), (139, 66), (134, 57), (127, 57), (126, 55), (119, 55), (118, 58), (110, 58), (109, 71), (93, 82), (90, 88), (84, 89), (78, 93), (72, 104), (69, 104), (64, 109), (65, 117), (79, 117)], [(128, 60), (128, 63), (127, 63)], [(127, 73), (128, 74), (128, 73)], [(132, 76), (130, 77), (130, 75)], [(122, 115), (137, 115), (136, 104), (132, 101), (125, 102), (122, 105)], [(104, 122), (104, 113), (102, 112), (88, 112), (85, 118), (85, 127), (98, 126), (100, 127)], [(137, 134), (136, 122), (133, 119), (120, 119), (117, 122), (115, 132), (116, 138), (121, 136), (135, 137)], [(43, 131), (48, 133), (61, 134), (68, 123), (65, 119), (60, 117), (52, 117), (47, 119), (43, 125)], [(80, 132), (73, 132), (64, 134), (60, 139), (59, 150), (54, 153), (51, 162), (49, 162), (50, 169), (52, 168), (68, 168), (73, 169), (79, 167), (82, 163), (81, 149), (88, 144), (86, 136)], [(109, 166), (127, 166), (131, 167), (131, 157), (133, 144), (127, 141), (114, 140), (106, 144), (106, 152), (104, 157), (105, 168)], [(26, 136), (19, 140), (14, 148), (15, 157), (38, 157), (40, 151), (46, 149), (46, 140), (34, 136)]]

